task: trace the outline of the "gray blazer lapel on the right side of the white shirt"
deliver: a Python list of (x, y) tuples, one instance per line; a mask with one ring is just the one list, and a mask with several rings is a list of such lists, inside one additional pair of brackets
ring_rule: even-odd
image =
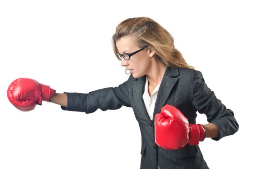
[(161, 108), (164, 106), (166, 100), (168, 99), (168, 96), (170, 95), (174, 85), (176, 84), (178, 80), (178, 75), (178, 68), (166, 68), (157, 95), (157, 100), (153, 113), (153, 122), (155, 120), (155, 115), (157, 113), (160, 113)]

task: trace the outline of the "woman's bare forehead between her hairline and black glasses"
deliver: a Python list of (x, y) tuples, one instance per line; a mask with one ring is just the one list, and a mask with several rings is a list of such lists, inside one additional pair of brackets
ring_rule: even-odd
[(123, 36), (116, 41), (116, 47), (119, 53), (133, 51), (134, 49), (138, 48), (137, 38), (134, 35)]

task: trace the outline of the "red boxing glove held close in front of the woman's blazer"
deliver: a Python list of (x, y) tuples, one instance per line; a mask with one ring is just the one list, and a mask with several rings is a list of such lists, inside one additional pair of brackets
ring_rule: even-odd
[(205, 137), (205, 127), (189, 124), (188, 119), (174, 106), (163, 106), (155, 116), (155, 140), (162, 148), (176, 150), (189, 143), (198, 145)]

